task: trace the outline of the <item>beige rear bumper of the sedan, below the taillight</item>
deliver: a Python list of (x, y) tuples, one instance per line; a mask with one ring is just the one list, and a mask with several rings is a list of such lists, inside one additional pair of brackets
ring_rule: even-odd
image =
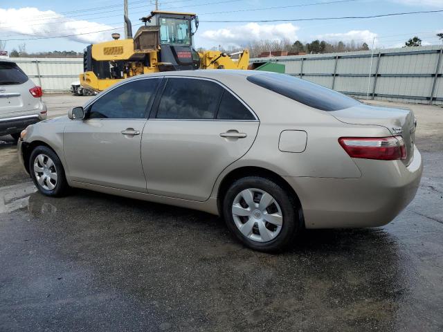
[(422, 178), (422, 156), (414, 147), (401, 161), (354, 159), (361, 178), (291, 178), (306, 228), (362, 228), (386, 225), (414, 199)]

